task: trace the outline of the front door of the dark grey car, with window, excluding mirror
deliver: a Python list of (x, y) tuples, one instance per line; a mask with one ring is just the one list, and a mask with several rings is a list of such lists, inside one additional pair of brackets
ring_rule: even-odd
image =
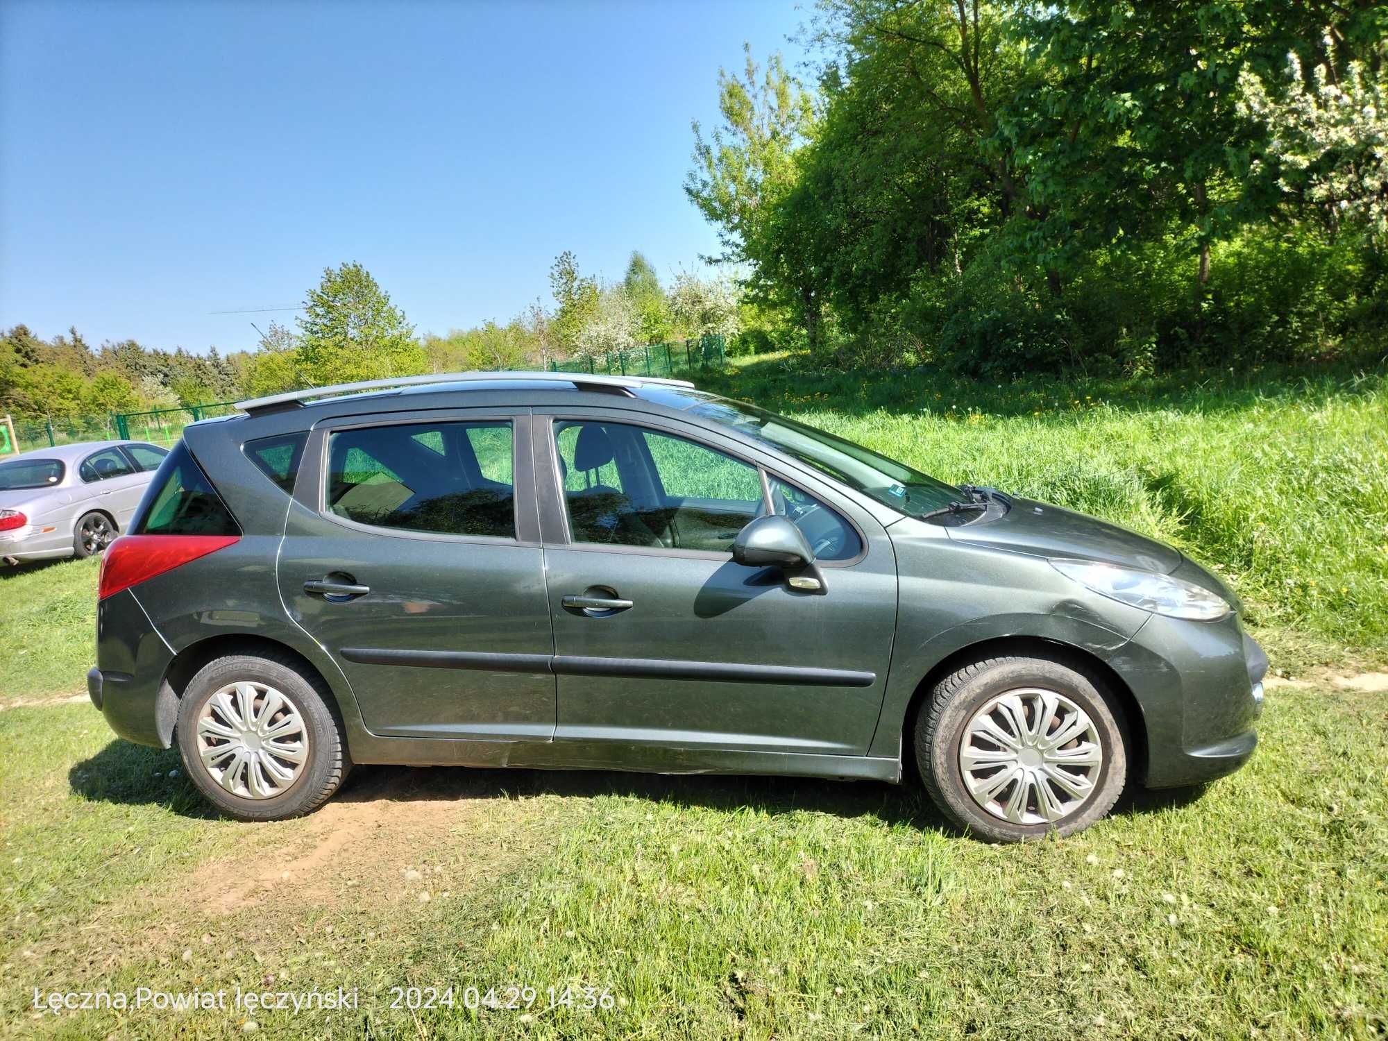
[[(897, 619), (886, 530), (697, 426), (604, 409), (555, 414), (545, 433), (543, 419), (557, 740), (866, 754)], [(733, 562), (768, 508), (818, 547), (823, 593)]]

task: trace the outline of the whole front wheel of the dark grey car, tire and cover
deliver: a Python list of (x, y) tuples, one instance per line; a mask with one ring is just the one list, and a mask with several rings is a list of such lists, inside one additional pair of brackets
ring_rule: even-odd
[(916, 719), (915, 751), (941, 812), (994, 843), (1080, 831), (1127, 781), (1110, 695), (1044, 658), (990, 658), (942, 679)]

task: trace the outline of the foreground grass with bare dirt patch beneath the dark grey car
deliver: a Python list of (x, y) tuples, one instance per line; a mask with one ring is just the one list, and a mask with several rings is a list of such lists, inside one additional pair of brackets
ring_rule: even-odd
[[(0, 1033), (225, 1037), (244, 1015), (35, 1019), (32, 987), (266, 977), (361, 988), (351, 1015), (255, 1015), (273, 1037), (1388, 1030), (1381, 695), (1276, 693), (1244, 772), (1027, 847), (959, 837), (909, 788), (609, 773), (366, 768), (314, 818), (246, 826), (178, 768), (85, 705), (0, 712)], [(618, 1004), (386, 1008), (411, 983)]]

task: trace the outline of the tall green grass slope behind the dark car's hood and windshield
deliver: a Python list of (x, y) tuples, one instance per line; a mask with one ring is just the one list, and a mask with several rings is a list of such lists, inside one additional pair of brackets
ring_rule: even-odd
[(1388, 644), (1381, 372), (1252, 380), (945, 380), (744, 361), (702, 386), (944, 480), (1072, 507), (1216, 568), (1256, 623)]

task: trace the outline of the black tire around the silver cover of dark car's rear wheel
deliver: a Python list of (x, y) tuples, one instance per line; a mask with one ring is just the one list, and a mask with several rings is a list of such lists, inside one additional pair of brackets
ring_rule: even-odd
[[(204, 765), (198, 719), (212, 697), (233, 683), (250, 683), (273, 688), (290, 705), (275, 719), (283, 719), (290, 711), (297, 712), (301, 727), (296, 734), (307, 736), (307, 755), (296, 777), (282, 786), (282, 791), (261, 798), (237, 794), (223, 787)], [(253, 686), (253, 691), (258, 687)], [(253, 704), (264, 709), (260, 694)], [(208, 709), (212, 715), (212, 709)], [(215, 716), (214, 716), (215, 718)], [(343, 726), (332, 708), (332, 697), (322, 688), (316, 676), (305, 676), (301, 665), (289, 655), (273, 652), (257, 655), (235, 654), (204, 665), (183, 691), (178, 709), (176, 740), (183, 756), (183, 769), (208, 802), (237, 820), (285, 820), (311, 813), (332, 797), (351, 770), (351, 758)], [(215, 738), (214, 738), (215, 740)], [(293, 738), (296, 743), (298, 737)], [(294, 769), (293, 763), (278, 761), (282, 769)], [(261, 772), (261, 777), (266, 773)], [(247, 784), (242, 787), (247, 788)]]

